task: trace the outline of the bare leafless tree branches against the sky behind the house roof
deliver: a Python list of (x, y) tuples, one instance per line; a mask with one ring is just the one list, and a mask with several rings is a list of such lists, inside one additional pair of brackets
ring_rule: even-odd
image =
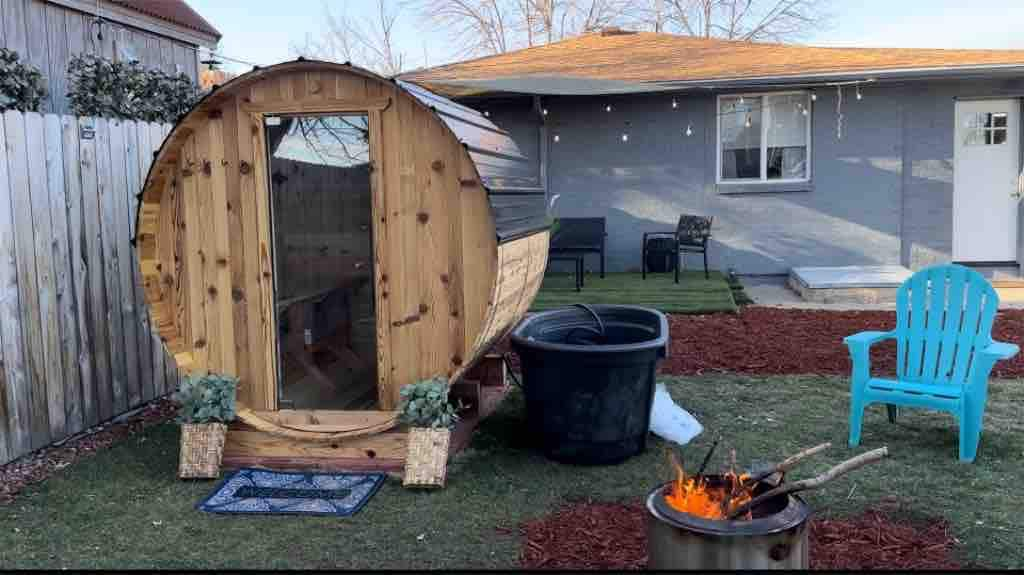
[[(399, 15), (445, 33), (455, 57), (508, 52), (624, 27), (702, 38), (793, 42), (826, 26), (833, 0), (375, 0), (372, 15), (334, 12), (325, 2), (319, 37), (292, 46), (298, 55), (351, 61), (383, 75), (410, 68)], [(404, 46), (408, 47), (408, 46)], [(423, 44), (423, 64), (427, 48)]]

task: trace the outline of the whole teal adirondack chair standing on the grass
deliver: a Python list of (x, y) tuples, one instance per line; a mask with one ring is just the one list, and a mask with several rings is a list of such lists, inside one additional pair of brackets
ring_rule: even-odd
[[(999, 298), (982, 275), (959, 265), (923, 269), (896, 294), (896, 328), (863, 331), (843, 341), (850, 348), (850, 446), (860, 443), (864, 408), (885, 403), (951, 412), (959, 422), (959, 458), (973, 461), (981, 439), (988, 373), (1018, 347), (992, 341)], [(896, 340), (896, 379), (872, 378), (868, 350)]]

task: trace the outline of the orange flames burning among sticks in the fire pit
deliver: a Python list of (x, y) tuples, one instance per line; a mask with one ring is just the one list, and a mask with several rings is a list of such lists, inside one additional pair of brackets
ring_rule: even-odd
[[(732, 510), (754, 497), (753, 486), (746, 485), (748, 474), (737, 475), (734, 470), (722, 476), (722, 484), (712, 486), (707, 478), (687, 476), (682, 466), (673, 461), (676, 480), (665, 494), (665, 500), (677, 512), (702, 519), (725, 519)], [(742, 519), (751, 519), (746, 512)]]

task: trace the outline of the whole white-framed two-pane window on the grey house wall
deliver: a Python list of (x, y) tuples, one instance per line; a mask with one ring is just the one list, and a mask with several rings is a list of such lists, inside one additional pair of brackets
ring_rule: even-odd
[(807, 92), (720, 96), (719, 182), (809, 180), (810, 110)]

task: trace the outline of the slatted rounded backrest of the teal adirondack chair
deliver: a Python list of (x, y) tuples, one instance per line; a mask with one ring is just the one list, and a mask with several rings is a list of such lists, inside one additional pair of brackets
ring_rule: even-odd
[(995, 290), (978, 272), (950, 264), (914, 273), (896, 300), (897, 377), (963, 385), (975, 351), (991, 342)]

